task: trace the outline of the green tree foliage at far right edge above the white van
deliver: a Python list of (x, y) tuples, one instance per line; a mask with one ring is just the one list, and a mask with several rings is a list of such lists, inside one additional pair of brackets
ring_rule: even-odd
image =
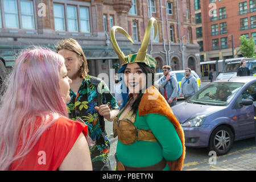
[(253, 37), (247, 39), (245, 35), (242, 35), (239, 39), (241, 41), (240, 51), (243, 57), (256, 57), (255, 43)]

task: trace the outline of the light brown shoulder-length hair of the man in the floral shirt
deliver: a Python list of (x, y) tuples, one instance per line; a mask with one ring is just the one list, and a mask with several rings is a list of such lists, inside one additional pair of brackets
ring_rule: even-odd
[(85, 77), (87, 75), (89, 72), (88, 63), (84, 55), (84, 51), (82, 51), (82, 47), (75, 39), (69, 38), (61, 40), (56, 44), (55, 48), (57, 52), (59, 52), (61, 49), (67, 49), (69, 51), (75, 52), (76, 55), (82, 59), (82, 66), (80, 67), (79, 76)]

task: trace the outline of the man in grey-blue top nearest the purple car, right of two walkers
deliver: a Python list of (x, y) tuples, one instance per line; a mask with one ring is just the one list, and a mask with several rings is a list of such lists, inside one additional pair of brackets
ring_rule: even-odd
[(199, 87), (197, 85), (196, 77), (191, 74), (190, 68), (185, 68), (185, 76), (181, 80), (180, 84), (180, 96), (183, 95), (185, 100), (193, 96)]

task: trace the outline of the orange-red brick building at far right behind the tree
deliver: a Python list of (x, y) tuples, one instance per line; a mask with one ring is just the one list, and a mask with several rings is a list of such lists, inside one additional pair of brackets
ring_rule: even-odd
[[(200, 60), (241, 57), (239, 38), (254, 37), (256, 0), (194, 0)], [(233, 52), (232, 52), (233, 36)]]

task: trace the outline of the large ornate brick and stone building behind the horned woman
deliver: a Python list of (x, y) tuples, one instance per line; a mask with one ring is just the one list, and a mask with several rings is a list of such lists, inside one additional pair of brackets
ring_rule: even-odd
[[(173, 69), (191, 67), (200, 73), (193, 0), (0, 0), (0, 55), (13, 65), (15, 54), (29, 46), (53, 46), (74, 38), (88, 59), (90, 75), (109, 73), (119, 63), (110, 43), (110, 29), (121, 26), (134, 44), (117, 34), (125, 55), (137, 52), (150, 16), (158, 20), (158, 35), (148, 53)], [(183, 63), (184, 60), (184, 63)]]

